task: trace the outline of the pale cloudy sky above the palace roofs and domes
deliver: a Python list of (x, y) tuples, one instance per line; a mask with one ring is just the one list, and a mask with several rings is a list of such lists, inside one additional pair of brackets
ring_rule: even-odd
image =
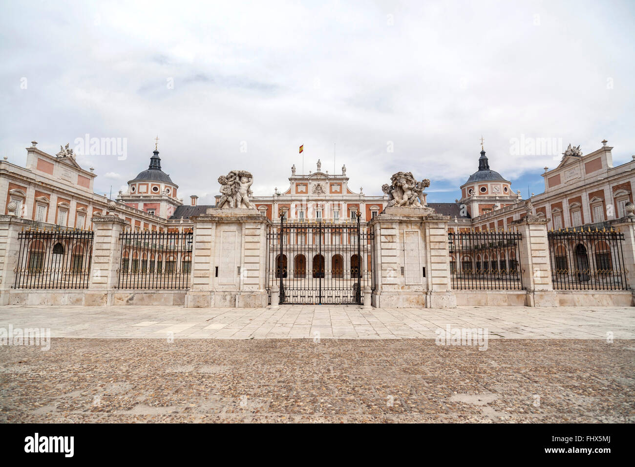
[(145, 170), (156, 135), (200, 203), (234, 168), (257, 194), (286, 189), (300, 144), (305, 172), (345, 163), (352, 188), (381, 194), (410, 170), (432, 180), (428, 201), (460, 196), (481, 135), (523, 197), (570, 142), (586, 154), (607, 139), (615, 165), (635, 154), (632, 1), (0, 6), (0, 156), (121, 139), (126, 158), (78, 156), (98, 193)]

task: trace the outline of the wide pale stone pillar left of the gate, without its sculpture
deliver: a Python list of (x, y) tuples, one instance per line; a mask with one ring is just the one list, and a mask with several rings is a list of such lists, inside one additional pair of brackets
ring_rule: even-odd
[(185, 306), (267, 306), (267, 231), (256, 209), (209, 208), (194, 222), (192, 285)]

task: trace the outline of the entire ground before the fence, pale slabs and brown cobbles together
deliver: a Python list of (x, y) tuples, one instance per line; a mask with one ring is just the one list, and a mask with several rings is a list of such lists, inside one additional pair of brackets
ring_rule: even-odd
[(634, 310), (5, 306), (0, 423), (633, 423)]

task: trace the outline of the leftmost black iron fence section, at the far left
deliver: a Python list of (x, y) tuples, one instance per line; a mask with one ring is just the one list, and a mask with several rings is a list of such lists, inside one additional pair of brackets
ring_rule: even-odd
[(94, 233), (84, 230), (27, 230), (13, 288), (88, 288)]

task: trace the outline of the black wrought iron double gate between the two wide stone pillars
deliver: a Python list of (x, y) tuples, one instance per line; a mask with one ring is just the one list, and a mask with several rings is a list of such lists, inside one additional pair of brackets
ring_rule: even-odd
[(267, 236), (267, 287), (280, 288), (280, 304), (363, 304), (375, 287), (374, 234), (356, 221), (285, 222)]

